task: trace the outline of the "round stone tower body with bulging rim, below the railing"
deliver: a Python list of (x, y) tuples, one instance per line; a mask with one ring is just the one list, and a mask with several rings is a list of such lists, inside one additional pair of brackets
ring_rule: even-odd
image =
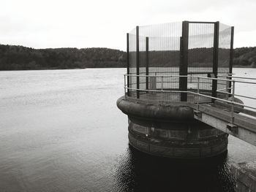
[(228, 134), (195, 120), (186, 102), (159, 105), (121, 97), (117, 106), (129, 118), (129, 144), (144, 153), (208, 158), (227, 151)]

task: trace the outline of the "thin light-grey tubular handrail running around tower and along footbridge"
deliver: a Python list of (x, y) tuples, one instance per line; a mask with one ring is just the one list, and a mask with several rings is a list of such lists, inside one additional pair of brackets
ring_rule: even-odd
[[(157, 90), (157, 89), (129, 88), (127, 86), (127, 81), (126, 81), (127, 77), (161, 77), (161, 81), (158, 81), (158, 82), (161, 82), (161, 88), (160, 88), (160, 90)], [(164, 77), (175, 77), (175, 78), (177, 78), (177, 77), (178, 78), (180, 78), (180, 77), (189, 77), (189, 78), (196, 78), (197, 81), (193, 81), (193, 83), (197, 83), (197, 86), (195, 88), (195, 90), (197, 90), (197, 91), (193, 92), (193, 91), (180, 91), (180, 90), (164, 90), (164, 88), (163, 88), (163, 83), (165, 82), (164, 81)], [(140, 74), (140, 75), (138, 75), (138, 74), (124, 74), (124, 95), (127, 96), (127, 94), (126, 94), (127, 90), (160, 92), (160, 93), (191, 93), (191, 94), (194, 94), (194, 95), (197, 95), (197, 96), (203, 96), (203, 97), (206, 97), (206, 98), (209, 98), (209, 99), (214, 99), (214, 100), (218, 100), (218, 101), (224, 101), (227, 104), (231, 104), (230, 123), (233, 123), (235, 105), (236, 106), (240, 106), (241, 109), (242, 109), (242, 107), (246, 107), (246, 108), (249, 108), (249, 109), (252, 109), (252, 110), (256, 110), (256, 107), (248, 106), (246, 104), (241, 104), (241, 103), (238, 103), (238, 102), (235, 101), (235, 96), (241, 96), (241, 97), (244, 97), (246, 99), (256, 99), (255, 97), (252, 97), (252, 96), (242, 96), (240, 94), (236, 94), (235, 93), (236, 82), (247, 83), (247, 84), (256, 84), (256, 82), (233, 80), (233, 79), (231, 79), (232, 76), (225, 76), (225, 77), (227, 77), (227, 78), (226, 79), (222, 79), (222, 78), (200, 77), (200, 76), (190, 76), (190, 75), (157, 75), (157, 74), (154, 74), (154, 75), (151, 75), (151, 74), (148, 74), (148, 75)], [(226, 88), (222, 88), (222, 89), (218, 90), (217, 92), (218, 93), (225, 93), (226, 94), (226, 99), (221, 99), (221, 98), (218, 98), (218, 97), (208, 96), (206, 94), (200, 93), (200, 83), (201, 84), (205, 83), (205, 82), (200, 81), (200, 79), (203, 79), (203, 80), (225, 81), (226, 82)], [(244, 79), (249, 80), (250, 78), (248, 78), (248, 77), (246, 78), (245, 77)], [(251, 79), (254, 79), (254, 78), (251, 78)], [(255, 78), (255, 80), (256, 80), (256, 78)], [(222, 84), (222, 85), (225, 85), (225, 84)], [(230, 92), (228, 92), (228, 91), (230, 91)], [(230, 96), (230, 98), (228, 96)], [(231, 101), (229, 99), (231, 99)], [(161, 101), (161, 99), (159, 101)], [(162, 96), (162, 101), (163, 101), (163, 96)], [(198, 110), (199, 109), (199, 105), (200, 105), (199, 104), (199, 99), (197, 99), (197, 101), (195, 101), (195, 102), (197, 104), (197, 110)], [(255, 112), (255, 111), (253, 111), (253, 112)]]

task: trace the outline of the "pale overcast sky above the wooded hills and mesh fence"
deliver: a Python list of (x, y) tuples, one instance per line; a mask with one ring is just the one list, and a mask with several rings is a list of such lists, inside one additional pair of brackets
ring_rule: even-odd
[(0, 44), (126, 50), (135, 26), (182, 20), (235, 26), (234, 47), (256, 46), (256, 0), (0, 0)]

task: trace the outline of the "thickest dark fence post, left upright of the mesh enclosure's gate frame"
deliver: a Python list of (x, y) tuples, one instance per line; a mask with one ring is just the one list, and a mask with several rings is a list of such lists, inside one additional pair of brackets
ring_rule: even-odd
[[(180, 41), (180, 69), (179, 90), (187, 91), (187, 67), (188, 67), (188, 50), (189, 50), (189, 21), (182, 22), (182, 37)], [(181, 101), (187, 101), (187, 93), (181, 93)]]

